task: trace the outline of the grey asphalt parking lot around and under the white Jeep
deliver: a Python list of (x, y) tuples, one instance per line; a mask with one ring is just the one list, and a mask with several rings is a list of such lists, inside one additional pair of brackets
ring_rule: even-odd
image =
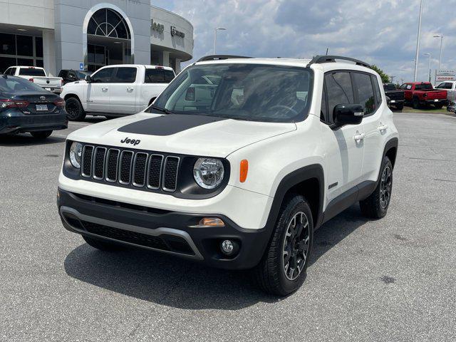
[(316, 232), (304, 286), (266, 296), (246, 272), (98, 252), (63, 229), (70, 123), (0, 139), (0, 341), (456, 341), (456, 118), (395, 113), (387, 217), (358, 206)]

